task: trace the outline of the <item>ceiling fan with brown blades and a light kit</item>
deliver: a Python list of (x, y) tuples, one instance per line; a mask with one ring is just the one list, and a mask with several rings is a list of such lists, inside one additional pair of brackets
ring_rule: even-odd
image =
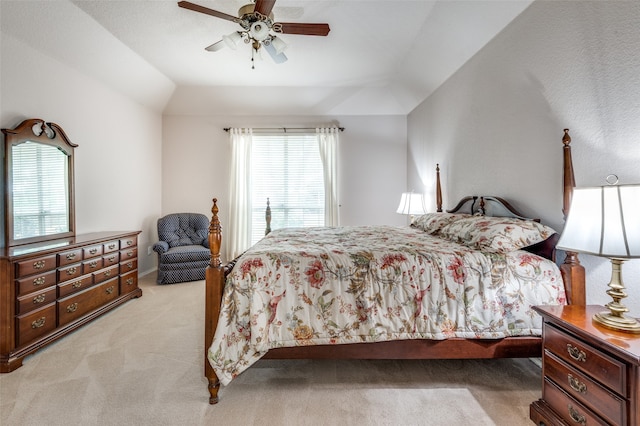
[[(242, 40), (244, 43), (251, 45), (251, 61), (253, 61), (253, 53), (258, 52), (261, 47), (264, 47), (264, 50), (269, 53), (274, 62), (281, 64), (287, 60), (283, 53), (287, 44), (277, 37), (275, 33), (314, 36), (326, 36), (329, 34), (329, 24), (275, 22), (272, 13), (275, 3), (276, 0), (254, 0), (254, 3), (242, 6), (238, 10), (237, 17), (188, 1), (179, 1), (178, 6), (240, 24), (241, 30), (223, 36), (222, 40), (206, 47), (205, 50), (216, 52), (224, 46), (236, 49), (238, 43)], [(254, 67), (252, 66), (252, 68)]]

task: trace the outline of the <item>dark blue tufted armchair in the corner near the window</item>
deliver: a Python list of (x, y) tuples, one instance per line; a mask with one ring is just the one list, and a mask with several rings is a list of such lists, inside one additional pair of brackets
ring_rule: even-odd
[(199, 213), (172, 213), (158, 219), (158, 284), (204, 280), (209, 264), (209, 220)]

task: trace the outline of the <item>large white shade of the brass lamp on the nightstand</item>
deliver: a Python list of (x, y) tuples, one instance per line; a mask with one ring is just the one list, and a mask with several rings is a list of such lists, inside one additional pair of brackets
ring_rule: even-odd
[(640, 258), (640, 185), (575, 189), (557, 247), (616, 259)]

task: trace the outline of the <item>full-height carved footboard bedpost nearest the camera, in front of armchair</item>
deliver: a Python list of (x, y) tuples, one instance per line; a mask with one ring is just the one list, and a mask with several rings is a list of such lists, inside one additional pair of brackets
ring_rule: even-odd
[(204, 325), (204, 375), (209, 381), (209, 404), (218, 402), (218, 390), (220, 390), (220, 381), (213, 371), (207, 352), (213, 343), (213, 335), (218, 325), (218, 316), (222, 304), (222, 291), (224, 289), (224, 268), (220, 261), (220, 247), (222, 244), (222, 226), (218, 219), (218, 199), (213, 199), (213, 207), (211, 207), (211, 223), (209, 225), (209, 249), (211, 250), (211, 259), (207, 266), (205, 280), (205, 325)]

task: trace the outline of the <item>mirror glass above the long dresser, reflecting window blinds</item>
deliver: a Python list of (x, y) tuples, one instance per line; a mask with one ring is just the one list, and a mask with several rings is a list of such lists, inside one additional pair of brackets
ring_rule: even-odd
[(12, 147), (13, 238), (69, 231), (67, 155), (55, 146), (27, 141)]

